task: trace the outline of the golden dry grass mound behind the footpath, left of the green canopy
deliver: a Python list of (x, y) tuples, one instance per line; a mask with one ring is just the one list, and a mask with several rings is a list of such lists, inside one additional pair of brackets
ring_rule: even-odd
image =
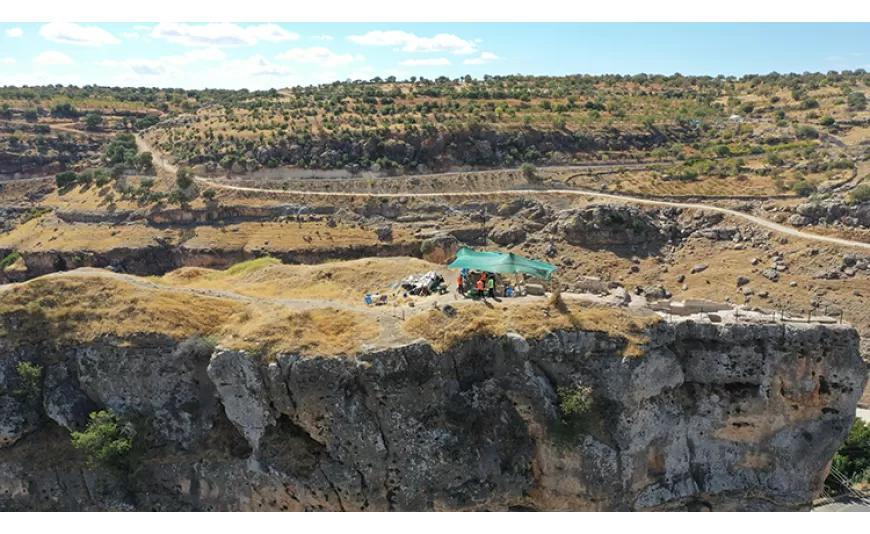
[(433, 270), (444, 272), (444, 267), (414, 258), (366, 258), (321, 265), (282, 265), (272, 258), (258, 258), (226, 271), (182, 268), (155, 280), (173, 286), (232, 290), (251, 297), (359, 303), (366, 293), (388, 292), (393, 282)]

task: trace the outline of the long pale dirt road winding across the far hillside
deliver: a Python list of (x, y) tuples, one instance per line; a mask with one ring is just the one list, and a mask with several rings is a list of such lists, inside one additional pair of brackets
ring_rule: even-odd
[[(140, 150), (151, 151), (151, 148), (139, 136), (136, 136), (136, 144), (139, 146)], [(170, 165), (165, 162), (162, 156), (158, 153), (151, 151), (154, 155), (154, 161), (162, 166), (164, 169), (174, 172), (176, 170), (175, 166)], [(256, 193), (274, 193), (281, 195), (308, 195), (308, 196), (320, 196), (320, 197), (373, 197), (373, 198), (445, 198), (445, 197), (477, 197), (480, 195), (523, 195), (523, 196), (536, 196), (536, 195), (575, 195), (575, 196), (583, 196), (583, 197), (596, 197), (596, 198), (604, 198), (609, 200), (616, 200), (619, 202), (629, 202), (633, 204), (644, 204), (648, 206), (664, 206), (664, 207), (674, 207), (674, 208), (683, 208), (683, 209), (700, 209), (700, 210), (708, 210), (715, 211), (719, 213), (723, 213), (726, 215), (730, 215), (732, 217), (737, 217), (740, 219), (744, 219), (753, 224), (761, 226), (762, 228), (767, 228), (769, 230), (773, 230), (774, 232), (778, 232), (781, 234), (799, 237), (802, 239), (808, 239), (811, 241), (819, 241), (822, 243), (831, 243), (834, 245), (846, 246), (846, 247), (855, 247), (870, 250), (870, 243), (865, 243), (862, 241), (852, 241), (849, 239), (840, 239), (838, 237), (829, 237), (819, 234), (813, 234), (810, 232), (804, 232), (802, 230), (797, 230), (795, 228), (790, 228), (788, 226), (784, 226), (779, 223), (775, 223), (773, 221), (769, 221), (767, 219), (762, 219), (761, 217), (756, 217), (754, 215), (749, 215), (747, 213), (743, 213), (736, 210), (731, 210), (727, 208), (721, 208), (718, 206), (712, 206), (709, 204), (694, 204), (688, 202), (670, 202), (666, 200), (649, 200), (645, 198), (637, 198), (628, 195), (614, 195), (611, 193), (601, 193), (598, 191), (590, 191), (585, 189), (502, 189), (495, 191), (485, 191), (485, 192), (457, 192), (457, 193), (339, 193), (339, 192), (331, 192), (331, 191), (300, 191), (300, 190), (284, 190), (284, 189), (262, 189), (258, 187), (243, 187), (243, 186), (235, 186), (235, 185), (227, 185), (222, 184), (220, 182), (215, 182), (214, 180), (210, 180), (208, 178), (203, 178), (201, 176), (195, 176), (196, 180), (207, 184), (211, 187), (221, 188), (221, 189), (229, 189), (233, 191), (246, 191), (246, 192), (256, 192)], [(573, 177), (569, 177), (570, 180)], [(727, 198), (723, 198), (722, 200), (727, 200)]]

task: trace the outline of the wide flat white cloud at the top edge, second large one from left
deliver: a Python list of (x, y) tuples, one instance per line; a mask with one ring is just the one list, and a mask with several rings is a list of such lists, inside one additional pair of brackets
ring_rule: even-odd
[(243, 28), (227, 22), (196, 25), (161, 22), (151, 31), (151, 37), (185, 46), (251, 46), (260, 41), (295, 41), (299, 34), (276, 24)]

